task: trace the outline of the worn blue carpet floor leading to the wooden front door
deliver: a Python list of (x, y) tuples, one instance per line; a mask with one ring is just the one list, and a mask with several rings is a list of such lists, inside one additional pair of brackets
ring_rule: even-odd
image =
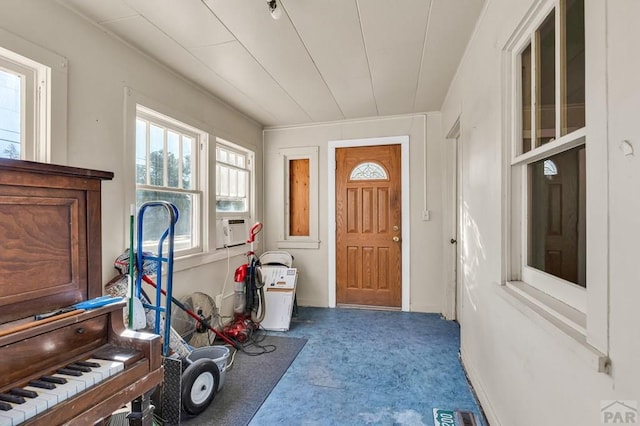
[(301, 307), (288, 332), (271, 334), (308, 342), (252, 426), (433, 426), (434, 408), (474, 412), (484, 425), (458, 324), (439, 315)]

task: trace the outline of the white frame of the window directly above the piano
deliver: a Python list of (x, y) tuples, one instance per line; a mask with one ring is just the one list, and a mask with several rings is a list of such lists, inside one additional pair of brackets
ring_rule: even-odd
[[(0, 29), (4, 68), (25, 75), (21, 159), (67, 163), (67, 59)], [(13, 64), (13, 65), (12, 65)]]

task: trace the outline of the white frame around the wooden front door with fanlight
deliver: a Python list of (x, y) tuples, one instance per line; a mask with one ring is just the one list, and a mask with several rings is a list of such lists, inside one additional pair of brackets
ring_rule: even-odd
[(369, 139), (344, 139), (329, 141), (327, 193), (329, 196), (329, 223), (327, 242), (329, 244), (329, 307), (336, 307), (336, 148), (356, 146), (400, 145), (402, 153), (402, 310), (410, 310), (411, 276), (409, 259), (411, 257), (411, 227), (409, 223), (409, 136), (391, 136)]

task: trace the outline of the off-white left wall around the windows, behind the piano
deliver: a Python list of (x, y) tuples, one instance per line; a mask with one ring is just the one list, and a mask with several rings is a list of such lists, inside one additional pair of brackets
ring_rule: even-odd
[[(206, 95), (158, 63), (125, 46), (53, 0), (3, 0), (0, 28), (68, 59), (67, 164), (107, 170), (113, 181), (103, 184), (103, 277), (115, 276), (113, 261), (128, 246), (129, 204), (124, 140), (124, 88), (203, 123), (208, 131), (256, 151), (262, 174), (262, 126)], [(214, 139), (215, 140), (215, 139)], [(54, 156), (55, 158), (56, 156)], [(131, 201), (129, 201), (131, 202)], [(258, 193), (257, 216), (262, 196)], [(245, 260), (231, 259), (233, 270)], [(193, 291), (215, 295), (227, 274), (226, 259), (174, 275), (174, 294)], [(229, 306), (231, 302), (229, 302)]]

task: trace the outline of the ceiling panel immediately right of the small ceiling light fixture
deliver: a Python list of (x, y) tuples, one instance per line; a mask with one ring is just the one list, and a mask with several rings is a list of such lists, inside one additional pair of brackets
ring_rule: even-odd
[(346, 118), (377, 115), (355, 1), (283, 0)]

